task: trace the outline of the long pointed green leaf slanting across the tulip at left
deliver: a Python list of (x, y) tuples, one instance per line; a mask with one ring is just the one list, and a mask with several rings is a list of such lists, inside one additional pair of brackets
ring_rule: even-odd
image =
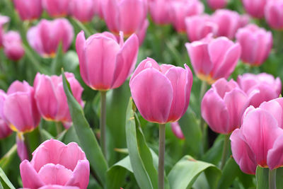
[(86, 153), (86, 157), (91, 164), (91, 169), (98, 176), (100, 183), (105, 185), (106, 171), (108, 170), (108, 164), (103, 156), (103, 153), (98, 145), (93, 130), (88, 125), (88, 122), (84, 116), (81, 105), (76, 101), (71, 93), (69, 82), (66, 79), (64, 71), (62, 71), (64, 91), (67, 96), (69, 110), (71, 113), (71, 119), (74, 123), (76, 134), (79, 138), (79, 142), (83, 151)]

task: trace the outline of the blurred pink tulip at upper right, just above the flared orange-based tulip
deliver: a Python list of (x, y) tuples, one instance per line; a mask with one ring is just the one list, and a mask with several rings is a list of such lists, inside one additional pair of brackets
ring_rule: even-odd
[(218, 36), (229, 39), (235, 37), (236, 31), (242, 25), (241, 16), (236, 11), (219, 9), (212, 15), (214, 22), (218, 25)]

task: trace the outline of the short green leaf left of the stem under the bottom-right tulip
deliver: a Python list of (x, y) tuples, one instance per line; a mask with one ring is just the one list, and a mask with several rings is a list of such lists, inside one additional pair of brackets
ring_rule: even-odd
[(269, 168), (262, 168), (257, 166), (255, 171), (255, 178), (257, 183), (257, 189), (266, 189), (269, 188)]

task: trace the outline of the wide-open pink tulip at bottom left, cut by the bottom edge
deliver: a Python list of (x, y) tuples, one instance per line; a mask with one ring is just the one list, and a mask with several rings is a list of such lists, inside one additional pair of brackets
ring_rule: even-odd
[(31, 189), (50, 188), (50, 185), (54, 189), (67, 189), (67, 186), (86, 189), (90, 171), (86, 155), (78, 144), (65, 145), (55, 139), (40, 144), (33, 152), (33, 159), (23, 161), (20, 170), (23, 187)]

